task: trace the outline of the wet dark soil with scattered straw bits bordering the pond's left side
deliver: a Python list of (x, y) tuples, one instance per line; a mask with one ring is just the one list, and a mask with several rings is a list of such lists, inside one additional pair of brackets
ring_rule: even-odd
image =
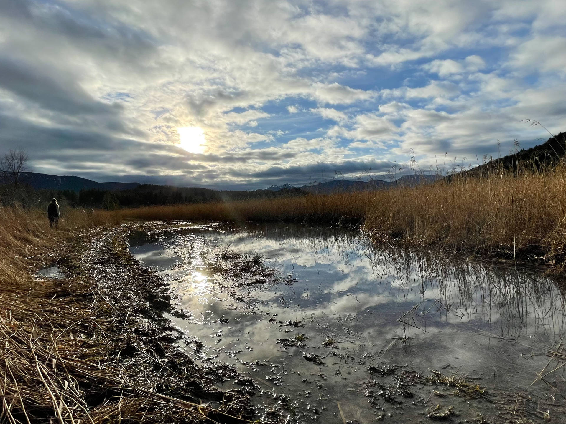
[[(89, 287), (84, 300), (101, 299), (97, 315), (106, 327), (92, 328), (91, 332), (102, 334), (106, 344), (104, 348), (96, 345), (93, 349), (101, 349), (99, 364), (117, 374), (110, 376), (112, 383), (104, 378), (80, 379), (88, 405), (110, 408), (113, 404), (123, 404), (118, 408), (119, 417), (107, 416), (103, 421), (139, 422), (142, 415), (135, 398), (149, 391), (156, 393), (161, 401), (144, 401), (143, 422), (249, 422), (255, 410), (247, 390), (217, 387), (227, 379), (243, 380), (235, 367), (216, 362), (198, 365), (179, 349), (177, 343), (185, 335), (171, 325), (170, 317), (181, 319), (187, 315), (171, 303), (168, 283), (128, 252), (129, 231), (128, 226), (96, 230), (58, 259), (58, 272), (51, 268), (49, 274), (39, 274), (61, 278), (62, 289), (70, 281), (67, 278), (83, 280), (84, 287)], [(75, 334), (74, 337), (80, 342), (88, 339), (87, 336)], [(88, 340), (82, 343), (88, 344)], [(122, 376), (127, 384), (115, 384), (116, 377)], [(132, 390), (132, 387), (140, 389)], [(183, 405), (175, 405), (175, 399), (215, 410), (186, 413)], [(129, 415), (128, 404), (132, 405)]]

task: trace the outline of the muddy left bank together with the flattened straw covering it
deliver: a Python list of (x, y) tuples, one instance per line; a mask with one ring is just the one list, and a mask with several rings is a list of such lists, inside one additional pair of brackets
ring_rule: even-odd
[(179, 332), (163, 314), (182, 315), (166, 284), (128, 253), (126, 231), (83, 235), (50, 253), (46, 265), (59, 273), (36, 274), (27, 295), (2, 292), (0, 421), (245, 423), (254, 417), (245, 390), (215, 387), (237, 375), (233, 367), (198, 366), (179, 350)]

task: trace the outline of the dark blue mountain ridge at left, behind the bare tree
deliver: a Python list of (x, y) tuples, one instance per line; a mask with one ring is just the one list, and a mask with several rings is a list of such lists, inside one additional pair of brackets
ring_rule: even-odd
[(139, 183), (97, 183), (74, 175), (49, 175), (38, 172), (22, 172), (20, 184), (29, 184), (36, 190), (71, 190), (79, 192), (83, 189), (128, 190), (138, 187)]

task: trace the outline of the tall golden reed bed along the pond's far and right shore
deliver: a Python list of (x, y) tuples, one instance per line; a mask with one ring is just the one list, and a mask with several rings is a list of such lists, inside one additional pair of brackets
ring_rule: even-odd
[(265, 201), (155, 206), (121, 210), (140, 220), (363, 220), (374, 240), (563, 265), (566, 167), (550, 172), (494, 170), (489, 178), (388, 191), (310, 195)]

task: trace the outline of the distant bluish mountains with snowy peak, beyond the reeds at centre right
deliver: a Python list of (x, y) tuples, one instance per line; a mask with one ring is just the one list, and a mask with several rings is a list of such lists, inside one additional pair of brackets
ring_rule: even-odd
[[(415, 184), (433, 183), (434, 181), (439, 180), (440, 178), (442, 178), (440, 175), (417, 174), (417, 175), (405, 175), (395, 181), (331, 180), (331, 181), (325, 181), (324, 183), (320, 183), (320, 184), (302, 185), (301, 187), (297, 187), (297, 188), (315, 194), (342, 193), (349, 191), (372, 191), (372, 190), (387, 189), (390, 187), (397, 187), (400, 185), (413, 187)], [(290, 184), (272, 185), (267, 190), (279, 191), (284, 188), (290, 189), (294, 187)]]

